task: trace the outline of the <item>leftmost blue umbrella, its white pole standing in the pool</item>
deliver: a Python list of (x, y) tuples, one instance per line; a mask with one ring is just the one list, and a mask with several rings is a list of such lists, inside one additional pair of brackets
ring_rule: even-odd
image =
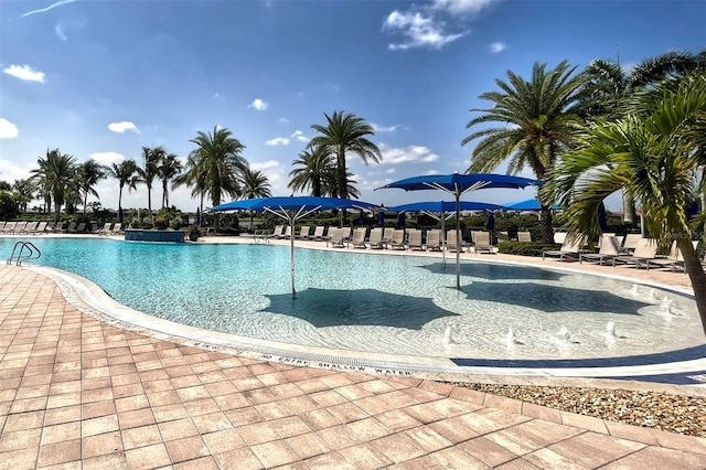
[[(256, 197), (240, 201), (233, 201), (212, 207), (212, 212), (227, 211), (258, 211), (269, 212), (284, 218), (292, 227), (295, 223), (307, 215), (318, 211), (331, 211), (334, 209), (357, 209), (371, 210), (374, 204), (362, 201), (340, 197), (315, 197), (315, 196), (275, 196), (275, 197)], [(295, 237), (289, 237), (290, 245), (290, 265), (291, 265), (291, 295), (297, 297), (295, 288)]]

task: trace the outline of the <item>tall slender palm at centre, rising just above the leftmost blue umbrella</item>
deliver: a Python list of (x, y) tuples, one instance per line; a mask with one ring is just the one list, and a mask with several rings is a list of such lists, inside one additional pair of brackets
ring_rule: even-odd
[(349, 172), (345, 167), (346, 152), (357, 154), (365, 164), (368, 160), (379, 163), (383, 159), (377, 146), (366, 136), (374, 136), (373, 127), (365, 119), (345, 111), (333, 111), (332, 116), (324, 113), (328, 125), (312, 125), (311, 128), (319, 132), (309, 142), (308, 148), (321, 149), (335, 160), (336, 190), (339, 197), (350, 197)]

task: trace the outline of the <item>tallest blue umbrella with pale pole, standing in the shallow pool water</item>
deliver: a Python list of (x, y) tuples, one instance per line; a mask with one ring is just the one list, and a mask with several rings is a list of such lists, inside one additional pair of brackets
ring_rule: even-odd
[[(530, 178), (512, 177), (510, 174), (495, 173), (452, 173), (452, 174), (427, 174), (413, 177), (405, 180), (385, 184), (381, 189), (398, 188), (405, 191), (440, 190), (453, 194), (456, 199), (456, 238), (461, 239), (461, 225), (459, 221), (460, 197), (471, 191), (491, 188), (521, 189), (530, 185), (539, 186), (542, 181)], [(460, 253), (456, 250), (456, 287), (461, 288), (461, 259)]]

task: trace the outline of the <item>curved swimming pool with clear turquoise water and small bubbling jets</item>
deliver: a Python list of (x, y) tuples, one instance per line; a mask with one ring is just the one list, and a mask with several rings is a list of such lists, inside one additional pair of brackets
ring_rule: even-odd
[[(0, 238), (4, 258), (14, 242)], [(453, 264), (439, 258), (297, 248), (292, 299), (286, 246), (32, 242), (40, 264), (131, 308), (269, 341), (489, 359), (612, 357), (703, 341), (689, 297), (597, 276), (464, 261), (457, 290)]]

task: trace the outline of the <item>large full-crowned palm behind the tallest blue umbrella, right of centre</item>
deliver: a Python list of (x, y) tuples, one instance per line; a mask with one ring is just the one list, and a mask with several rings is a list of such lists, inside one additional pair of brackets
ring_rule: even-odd
[[(537, 180), (547, 181), (547, 173), (557, 157), (571, 147), (573, 133), (578, 117), (574, 114), (578, 90), (582, 84), (576, 67), (564, 61), (553, 71), (546, 64), (535, 63), (532, 78), (525, 81), (507, 71), (510, 83), (496, 79), (501, 92), (489, 92), (480, 96), (494, 104), (488, 109), (471, 109), (483, 113), (473, 118), (467, 128), (486, 122), (502, 122), (502, 127), (477, 130), (461, 142), (462, 146), (481, 139), (471, 153), (468, 172), (490, 172), (510, 159), (509, 174), (517, 174), (530, 167)], [(542, 238), (554, 241), (552, 228), (552, 203), (542, 204)]]

